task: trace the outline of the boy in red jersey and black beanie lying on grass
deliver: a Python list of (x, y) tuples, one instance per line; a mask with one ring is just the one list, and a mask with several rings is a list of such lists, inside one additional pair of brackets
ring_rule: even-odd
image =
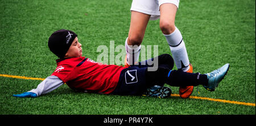
[[(203, 85), (212, 92), (229, 69), (229, 64), (225, 64), (205, 74), (173, 70), (174, 59), (169, 54), (159, 55), (129, 67), (106, 65), (82, 57), (81, 46), (75, 32), (61, 29), (52, 33), (48, 47), (60, 58), (56, 60), (57, 68), (36, 89), (13, 96), (39, 97), (66, 83), (69, 88), (79, 92), (166, 98), (170, 97), (171, 89), (163, 86), (164, 84)], [(154, 59), (158, 59), (158, 67), (156, 71), (148, 71), (148, 67), (152, 67), (148, 62)]]

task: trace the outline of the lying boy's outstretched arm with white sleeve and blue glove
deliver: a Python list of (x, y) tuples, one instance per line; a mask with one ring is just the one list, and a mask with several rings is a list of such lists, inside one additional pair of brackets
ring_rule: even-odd
[(38, 97), (42, 94), (46, 94), (55, 90), (60, 85), (63, 85), (64, 82), (59, 79), (57, 76), (49, 76), (44, 81), (42, 81), (36, 89), (32, 89), (28, 92), (22, 94), (15, 94), (14, 97)]

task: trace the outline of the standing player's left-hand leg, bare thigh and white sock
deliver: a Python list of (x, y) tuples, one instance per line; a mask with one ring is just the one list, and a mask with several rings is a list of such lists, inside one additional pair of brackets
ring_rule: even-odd
[(150, 15), (143, 14), (137, 11), (131, 11), (129, 35), (125, 41), (125, 48), (126, 48), (125, 65), (126, 66), (135, 64), (139, 60), (141, 43), (142, 43), (149, 19), (150, 19)]

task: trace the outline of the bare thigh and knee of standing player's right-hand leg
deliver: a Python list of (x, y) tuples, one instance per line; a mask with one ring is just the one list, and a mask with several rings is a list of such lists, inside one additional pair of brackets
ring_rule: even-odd
[(170, 34), (175, 30), (175, 16), (177, 6), (172, 3), (164, 3), (160, 5), (160, 28), (164, 34)]

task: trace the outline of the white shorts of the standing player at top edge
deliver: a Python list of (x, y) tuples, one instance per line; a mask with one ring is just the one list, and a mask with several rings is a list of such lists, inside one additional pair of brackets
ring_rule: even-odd
[(179, 2), (180, 0), (133, 0), (130, 10), (151, 15), (150, 20), (156, 20), (160, 18), (160, 5), (172, 3), (179, 8)]

